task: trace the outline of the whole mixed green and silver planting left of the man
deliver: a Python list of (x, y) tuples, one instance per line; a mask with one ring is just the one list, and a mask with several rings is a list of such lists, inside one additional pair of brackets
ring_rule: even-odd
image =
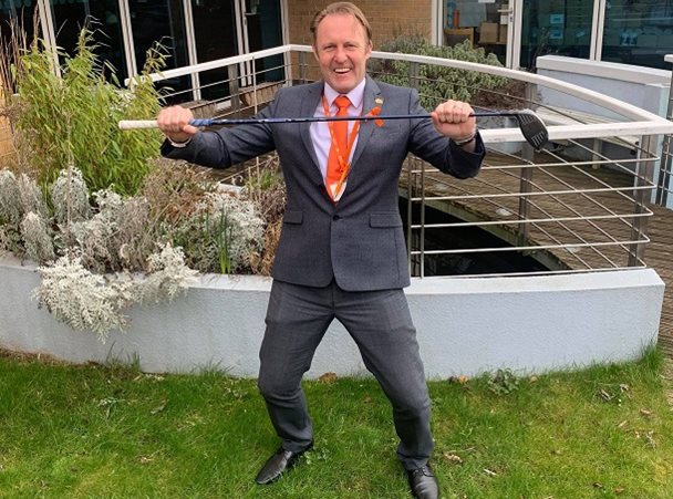
[[(148, 79), (132, 91), (107, 82), (93, 49), (87, 31), (73, 58), (35, 41), (14, 66), (19, 97), (3, 115), (19, 162), (0, 165), (0, 250), (41, 264), (40, 306), (105, 340), (126, 329), (133, 303), (172, 300), (197, 271), (268, 273), (284, 189), (276, 156), (234, 190), (157, 159), (158, 132), (117, 122), (155, 116), (158, 94)], [(147, 60), (145, 72), (163, 65), (158, 49)]]

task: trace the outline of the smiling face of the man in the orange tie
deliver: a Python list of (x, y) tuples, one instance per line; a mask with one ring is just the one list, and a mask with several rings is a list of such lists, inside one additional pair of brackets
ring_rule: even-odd
[(313, 53), (323, 80), (340, 94), (346, 94), (366, 74), (372, 43), (354, 15), (330, 14), (318, 25)]

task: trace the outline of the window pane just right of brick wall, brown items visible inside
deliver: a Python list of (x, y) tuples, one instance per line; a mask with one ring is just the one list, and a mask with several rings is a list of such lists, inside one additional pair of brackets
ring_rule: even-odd
[(507, 0), (444, 0), (444, 45), (455, 45), (469, 40), (475, 46), (493, 52), (505, 64), (507, 56)]

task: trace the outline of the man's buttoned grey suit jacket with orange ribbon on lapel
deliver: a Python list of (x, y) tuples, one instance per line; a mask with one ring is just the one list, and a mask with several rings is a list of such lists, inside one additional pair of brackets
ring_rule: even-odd
[[(278, 92), (263, 117), (313, 116), (323, 83)], [(381, 114), (421, 114), (415, 90), (367, 76), (364, 112), (383, 100)], [(475, 176), (484, 157), (477, 137), (466, 153), (436, 132), (429, 119), (362, 122), (348, 185), (341, 200), (329, 198), (310, 137), (310, 123), (241, 125), (194, 136), (187, 147), (167, 142), (162, 153), (204, 166), (225, 168), (273, 149), (278, 152), (288, 205), (276, 253), (273, 278), (309, 287), (332, 279), (346, 291), (397, 289), (410, 284), (406, 246), (397, 204), (397, 181), (407, 153), (458, 178)]]

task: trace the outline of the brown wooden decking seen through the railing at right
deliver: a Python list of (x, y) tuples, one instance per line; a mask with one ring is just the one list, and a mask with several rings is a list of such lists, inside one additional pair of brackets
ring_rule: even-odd
[[(454, 209), (466, 219), (501, 219), (510, 221), (497, 226), (500, 236), (515, 241), (519, 226), (516, 220), (519, 209), (520, 169), (490, 169), (504, 164), (498, 155), (488, 155), (486, 168), (475, 179), (457, 180), (436, 170), (425, 174), (426, 196), (459, 196), (460, 194), (512, 194), (507, 197), (486, 197), (454, 200)], [(547, 162), (549, 159), (547, 158)], [(537, 163), (537, 160), (536, 160)], [(545, 162), (542, 162), (545, 163)], [(529, 226), (526, 240), (531, 245), (592, 243), (597, 247), (558, 248), (548, 250), (556, 260), (568, 269), (605, 269), (628, 266), (630, 245), (614, 245), (614, 241), (632, 239), (631, 223), (636, 205), (630, 198), (633, 176), (601, 167), (549, 166), (536, 167), (529, 187), (540, 194), (529, 199), (529, 216), (532, 219), (610, 217), (613, 219), (546, 221)], [(570, 194), (571, 189), (623, 189), (622, 191)], [(649, 191), (648, 191), (649, 197)], [(648, 236), (651, 242), (645, 249), (645, 263), (654, 269), (665, 282), (664, 302), (659, 331), (659, 343), (669, 357), (673, 357), (673, 210), (648, 205), (652, 216), (646, 217)], [(508, 236), (509, 235), (509, 236)], [(520, 240), (519, 240), (520, 241)], [(521, 243), (519, 242), (519, 246)], [(526, 245), (526, 242), (524, 242)], [(605, 246), (601, 246), (605, 245)]]

